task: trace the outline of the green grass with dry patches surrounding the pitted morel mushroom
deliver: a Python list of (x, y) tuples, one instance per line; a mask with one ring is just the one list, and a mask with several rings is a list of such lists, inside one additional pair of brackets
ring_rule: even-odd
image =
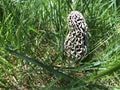
[[(77, 63), (63, 55), (72, 10), (89, 27)], [(1, 0), (0, 88), (119, 90), (119, 14), (116, 0)]]

